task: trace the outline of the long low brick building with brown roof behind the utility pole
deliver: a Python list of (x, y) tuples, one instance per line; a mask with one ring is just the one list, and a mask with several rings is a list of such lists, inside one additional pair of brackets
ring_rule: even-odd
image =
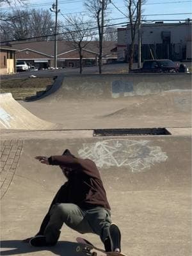
[[(14, 42), (16, 60), (26, 61), (38, 69), (54, 67), (54, 42)], [(116, 61), (116, 42), (104, 42), (103, 61)], [(97, 65), (99, 42), (89, 42), (83, 49), (83, 66)], [(58, 41), (58, 67), (79, 67), (79, 53), (71, 42)]]

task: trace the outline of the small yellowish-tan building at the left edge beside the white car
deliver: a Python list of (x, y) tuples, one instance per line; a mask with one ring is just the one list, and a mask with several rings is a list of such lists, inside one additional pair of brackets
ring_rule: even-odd
[(16, 49), (12, 47), (0, 47), (0, 74), (13, 74), (15, 73), (15, 52)]

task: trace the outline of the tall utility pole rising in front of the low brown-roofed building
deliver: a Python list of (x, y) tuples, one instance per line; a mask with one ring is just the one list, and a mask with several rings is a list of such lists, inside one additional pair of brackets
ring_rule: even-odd
[(55, 4), (52, 4), (52, 8), (49, 9), (55, 13), (55, 27), (54, 27), (54, 68), (58, 67), (58, 0)]

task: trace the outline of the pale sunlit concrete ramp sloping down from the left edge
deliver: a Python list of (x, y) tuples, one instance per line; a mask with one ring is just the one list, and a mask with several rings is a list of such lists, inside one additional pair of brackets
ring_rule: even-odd
[(11, 93), (1, 93), (0, 101), (1, 129), (50, 130), (58, 126), (31, 114), (13, 99)]

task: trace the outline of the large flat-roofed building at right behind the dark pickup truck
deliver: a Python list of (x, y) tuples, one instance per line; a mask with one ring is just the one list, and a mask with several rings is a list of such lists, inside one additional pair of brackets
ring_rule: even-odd
[[(118, 28), (117, 56), (119, 61), (129, 61), (127, 52), (131, 44), (131, 29)], [(170, 59), (191, 60), (191, 22), (156, 22), (141, 25), (141, 60)], [(138, 35), (134, 47), (134, 61), (138, 60)]]

